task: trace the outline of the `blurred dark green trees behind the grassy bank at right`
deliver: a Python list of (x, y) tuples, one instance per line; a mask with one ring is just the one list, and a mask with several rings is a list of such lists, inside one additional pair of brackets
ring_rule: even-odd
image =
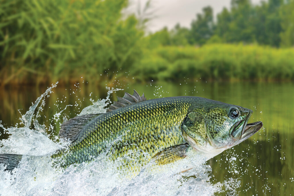
[[(183, 28), (188, 30), (185, 38), (189, 44), (199, 46), (213, 42), (293, 46), (293, 6), (293, 0), (269, 0), (258, 5), (251, 4), (250, 0), (232, 0), (231, 9), (223, 8), (216, 19), (208, 6), (203, 8), (203, 13), (196, 15), (191, 28)], [(170, 33), (173, 34), (175, 29), (181, 32), (177, 25)]]

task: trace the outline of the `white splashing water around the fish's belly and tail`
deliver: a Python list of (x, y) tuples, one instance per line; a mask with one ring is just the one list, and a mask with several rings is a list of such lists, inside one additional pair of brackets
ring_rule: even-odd
[[(40, 125), (38, 118), (45, 105), (44, 98), (53, 93), (56, 85), (49, 87), (22, 115), (20, 120), (24, 127), (5, 128), (0, 122), (4, 131), (10, 134), (8, 139), (0, 141), (0, 153), (24, 155), (12, 174), (4, 172), (4, 165), (0, 165), (1, 195), (214, 195), (218, 192), (233, 195), (235, 188), (240, 186), (237, 179), (212, 183), (211, 167), (206, 165), (205, 158), (195, 153), (164, 166), (155, 167), (150, 163), (135, 176), (128, 170), (117, 169), (121, 165), (120, 160), (113, 163), (104, 154), (91, 163), (71, 165), (65, 170), (52, 167), (50, 156), (40, 155), (50, 155), (69, 143), (57, 137), (49, 139), (45, 125)], [(83, 108), (79, 115), (105, 112), (110, 94), (119, 90), (122, 89), (108, 88), (105, 99), (91, 100), (93, 104)], [(56, 112), (52, 119), (59, 122), (68, 106), (73, 105)], [(31, 128), (32, 120), (34, 129)], [(54, 125), (47, 129), (53, 131)], [(187, 171), (182, 173), (184, 170)]]

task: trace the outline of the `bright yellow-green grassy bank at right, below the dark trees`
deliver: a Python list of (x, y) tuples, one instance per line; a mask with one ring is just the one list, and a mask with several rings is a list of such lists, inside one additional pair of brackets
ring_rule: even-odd
[(142, 80), (294, 80), (294, 49), (256, 45), (164, 46), (149, 51), (132, 70)]

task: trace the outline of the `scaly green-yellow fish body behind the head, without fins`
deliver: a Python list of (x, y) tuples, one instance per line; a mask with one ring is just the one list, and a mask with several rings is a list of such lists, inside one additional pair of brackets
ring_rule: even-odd
[(188, 97), (153, 99), (101, 114), (87, 125), (82, 139), (52, 157), (61, 157), (65, 160), (62, 166), (67, 167), (93, 160), (110, 144), (108, 155), (113, 160), (134, 150), (148, 152), (148, 161), (161, 150), (183, 142), (180, 126), (190, 102)]

